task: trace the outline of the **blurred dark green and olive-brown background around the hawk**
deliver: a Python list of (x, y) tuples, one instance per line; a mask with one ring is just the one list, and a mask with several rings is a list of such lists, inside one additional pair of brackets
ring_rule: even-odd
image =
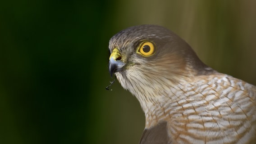
[(158, 24), (219, 72), (256, 85), (255, 0), (0, 2), (0, 144), (138, 144), (137, 99), (112, 81), (108, 42)]

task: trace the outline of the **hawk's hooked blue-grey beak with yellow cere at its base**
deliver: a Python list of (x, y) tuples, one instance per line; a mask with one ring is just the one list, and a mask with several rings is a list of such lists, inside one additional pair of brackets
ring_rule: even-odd
[(109, 72), (110, 76), (113, 76), (113, 73), (120, 72), (123, 70), (125, 63), (122, 61), (121, 54), (117, 48), (114, 48), (111, 55), (110, 55), (110, 62), (109, 62)]

